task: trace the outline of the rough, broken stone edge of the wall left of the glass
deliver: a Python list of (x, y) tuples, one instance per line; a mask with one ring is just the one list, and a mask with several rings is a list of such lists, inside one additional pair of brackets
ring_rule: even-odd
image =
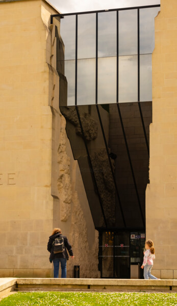
[[(94, 228), (89, 203), (78, 161), (73, 159), (66, 135), (66, 120), (59, 110), (59, 75), (57, 66), (57, 37), (60, 23), (54, 20), (50, 26), (52, 46), (48, 52), (49, 66), (49, 105), (53, 113), (52, 137), (52, 194), (54, 203), (54, 227), (60, 227), (72, 245), (74, 259), (67, 263), (67, 277), (73, 277), (73, 266), (80, 265), (80, 277), (97, 278), (98, 271), (98, 232)], [(64, 45), (60, 45), (63, 48)], [(59, 56), (59, 53), (58, 53)], [(64, 69), (61, 69), (64, 73)], [(63, 76), (62, 76), (63, 77)], [(61, 84), (61, 83), (60, 83)], [(62, 83), (63, 84), (63, 83)], [(63, 86), (65, 86), (63, 84)], [(67, 86), (67, 84), (66, 84)], [(65, 91), (62, 88), (62, 92)], [(66, 98), (61, 97), (60, 98)], [(60, 275), (60, 274), (59, 274)]]

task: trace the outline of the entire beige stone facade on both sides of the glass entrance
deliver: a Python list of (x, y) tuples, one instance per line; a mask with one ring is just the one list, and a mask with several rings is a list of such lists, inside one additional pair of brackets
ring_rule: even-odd
[[(50, 25), (56, 13), (44, 0), (0, 1), (1, 277), (51, 277), (46, 244), (53, 227), (61, 227), (73, 246), (67, 276), (80, 265), (81, 277), (99, 277), (98, 233), (59, 111), (60, 22)], [(146, 238), (155, 242), (154, 274), (160, 278), (177, 277), (176, 16), (176, 0), (161, 0), (146, 189)], [(77, 122), (74, 128), (80, 135)], [(94, 125), (88, 139), (96, 133)]]

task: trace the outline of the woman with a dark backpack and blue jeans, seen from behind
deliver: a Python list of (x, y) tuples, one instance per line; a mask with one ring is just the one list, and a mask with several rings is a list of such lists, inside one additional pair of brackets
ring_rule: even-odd
[(54, 264), (54, 278), (59, 277), (59, 266), (61, 264), (61, 277), (66, 278), (66, 263), (69, 259), (67, 250), (71, 258), (74, 258), (72, 247), (66, 236), (63, 236), (60, 228), (54, 228), (49, 237), (47, 250), (50, 252), (49, 261)]

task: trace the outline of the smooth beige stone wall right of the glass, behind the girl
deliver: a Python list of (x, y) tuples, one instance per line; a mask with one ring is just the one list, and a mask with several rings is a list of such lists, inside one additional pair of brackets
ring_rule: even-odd
[(150, 184), (146, 189), (146, 238), (155, 242), (154, 269), (177, 277), (177, 2), (161, 0), (155, 18)]

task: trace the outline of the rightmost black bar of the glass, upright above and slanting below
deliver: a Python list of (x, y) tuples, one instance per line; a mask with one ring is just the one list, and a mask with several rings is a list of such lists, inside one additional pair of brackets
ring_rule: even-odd
[(142, 126), (143, 126), (144, 138), (145, 138), (146, 147), (147, 147), (147, 154), (148, 154), (148, 157), (149, 157), (149, 144), (148, 144), (148, 140), (147, 140), (147, 134), (146, 134), (146, 129), (145, 129), (145, 125), (144, 125), (144, 119), (143, 119), (141, 104), (140, 104), (140, 21), (139, 21), (139, 9), (137, 11), (138, 11), (138, 107), (139, 107), (141, 122), (142, 122)]

